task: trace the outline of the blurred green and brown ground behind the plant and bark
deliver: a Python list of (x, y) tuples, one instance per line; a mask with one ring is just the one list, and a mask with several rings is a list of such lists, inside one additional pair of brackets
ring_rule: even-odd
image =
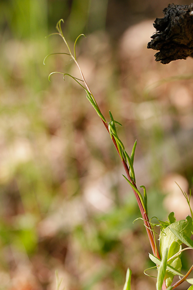
[[(190, 4), (176, 1), (175, 4)], [(0, 1), (0, 290), (155, 289), (146, 230), (118, 154), (56, 32), (57, 21), (102, 113), (145, 185), (149, 217), (190, 214), (193, 176), (193, 59), (155, 62), (146, 48), (168, 1)], [(154, 219), (156, 222), (156, 219)], [(184, 254), (183, 271), (192, 260)], [(149, 274), (155, 274), (152, 270)], [(185, 289), (184, 284), (179, 289)], [(188, 286), (187, 286), (188, 288)]]

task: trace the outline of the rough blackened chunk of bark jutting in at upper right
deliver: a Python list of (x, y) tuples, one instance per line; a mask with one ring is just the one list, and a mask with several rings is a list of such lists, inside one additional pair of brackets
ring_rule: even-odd
[(163, 64), (193, 57), (193, 3), (169, 4), (163, 12), (164, 18), (156, 18), (153, 23), (156, 33), (147, 48), (159, 50), (155, 60)]

